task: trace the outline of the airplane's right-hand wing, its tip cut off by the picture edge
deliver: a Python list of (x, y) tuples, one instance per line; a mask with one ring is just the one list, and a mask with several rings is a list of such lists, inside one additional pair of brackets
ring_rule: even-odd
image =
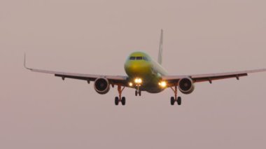
[(255, 69), (249, 71), (236, 71), (229, 73), (210, 73), (210, 74), (200, 74), (200, 75), (188, 75), (188, 76), (162, 76), (162, 80), (166, 80), (170, 84), (176, 84), (182, 78), (191, 78), (195, 83), (200, 83), (204, 81), (209, 81), (212, 83), (212, 80), (221, 80), (225, 78), (237, 78), (242, 76), (248, 76), (248, 73), (258, 73), (266, 71), (266, 69)]

